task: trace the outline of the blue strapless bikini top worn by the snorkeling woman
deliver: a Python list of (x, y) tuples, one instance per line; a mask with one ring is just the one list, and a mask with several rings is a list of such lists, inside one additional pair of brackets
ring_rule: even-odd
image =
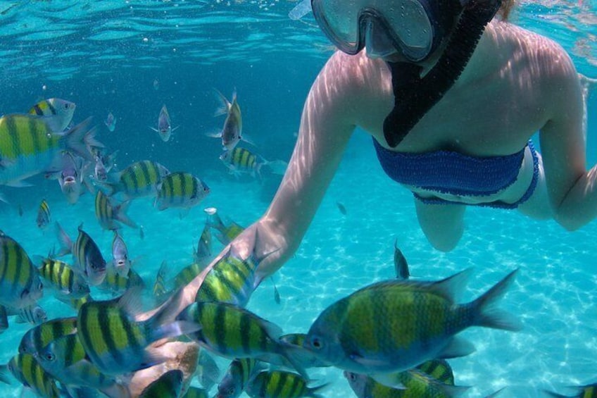
[(511, 155), (475, 157), (445, 150), (422, 154), (395, 152), (382, 147), (375, 138), (373, 143), (379, 163), (392, 180), (460, 196), (496, 194), (513, 184), (526, 148)]

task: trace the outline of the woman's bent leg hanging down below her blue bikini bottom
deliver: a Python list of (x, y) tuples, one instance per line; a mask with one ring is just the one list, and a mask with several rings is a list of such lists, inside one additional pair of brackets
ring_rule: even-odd
[(464, 232), (465, 205), (424, 204), (415, 198), (415, 209), (419, 225), (433, 247), (440, 251), (456, 247)]

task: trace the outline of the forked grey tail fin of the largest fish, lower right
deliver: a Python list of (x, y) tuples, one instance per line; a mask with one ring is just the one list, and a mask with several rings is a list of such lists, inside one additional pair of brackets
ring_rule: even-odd
[(512, 331), (522, 329), (520, 322), (513, 318), (511, 314), (496, 309), (498, 300), (501, 299), (514, 281), (517, 271), (518, 268), (505, 275), (496, 285), (470, 303), (475, 313), (473, 325)]

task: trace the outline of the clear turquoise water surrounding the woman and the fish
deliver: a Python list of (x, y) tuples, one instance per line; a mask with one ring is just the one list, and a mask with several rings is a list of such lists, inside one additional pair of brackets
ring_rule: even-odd
[[(26, 111), (44, 97), (75, 101), (75, 122), (94, 116), (99, 139), (118, 149), (118, 166), (149, 158), (170, 170), (198, 175), (211, 188), (201, 205), (180, 218), (158, 212), (150, 199), (135, 200), (129, 215), (144, 226), (122, 235), (135, 268), (152, 285), (161, 262), (170, 275), (191, 261), (201, 234), (203, 208), (249, 225), (268, 206), (277, 180), (264, 185), (227, 174), (218, 156), (218, 102), (213, 88), (239, 94), (244, 131), (265, 158), (287, 160), (294, 147), (303, 100), (330, 54), (312, 18), (286, 16), (290, 1), (0, 1), (0, 113)], [(3, 12), (6, 11), (6, 12)], [(594, 1), (522, 3), (513, 20), (556, 39), (579, 72), (597, 77), (597, 6)], [(301, 56), (297, 66), (296, 57)], [(158, 81), (158, 89), (153, 82)], [(169, 142), (149, 130), (162, 104), (172, 125)], [(589, 96), (588, 162), (597, 161), (597, 94)], [(102, 120), (118, 122), (108, 132)], [(110, 257), (112, 235), (99, 227), (93, 197), (66, 204), (55, 181), (32, 178), (34, 187), (3, 187), (10, 204), (0, 206), (0, 229), (30, 255), (47, 254), (54, 232), (35, 225), (37, 206), (49, 202), (53, 220), (71, 237), (77, 225)], [(346, 208), (343, 215), (337, 202)], [(19, 216), (18, 207), (23, 209)], [(296, 255), (275, 275), (282, 298), (276, 304), (270, 280), (253, 294), (249, 309), (284, 332), (306, 332), (322, 309), (371, 282), (393, 278), (394, 240), (416, 277), (436, 280), (473, 266), (463, 301), (477, 297), (514, 268), (515, 285), (501, 302), (524, 323), (522, 332), (472, 329), (463, 333), (477, 352), (452, 360), (456, 384), (472, 386), (467, 397), (501, 387), (503, 397), (539, 397), (541, 389), (567, 392), (567, 385), (597, 381), (597, 223), (565, 232), (553, 221), (533, 221), (515, 212), (471, 208), (458, 247), (441, 254), (420, 231), (411, 194), (392, 183), (377, 164), (370, 138), (353, 136), (339, 172)], [(216, 245), (216, 251), (221, 246)], [(68, 258), (67, 258), (68, 259)], [(46, 294), (40, 301), (50, 318), (74, 314)], [(29, 326), (11, 322), (0, 335), (0, 363), (15, 354)], [(220, 364), (225, 366), (225, 361)], [(353, 396), (341, 372), (315, 371), (331, 381), (325, 397)], [(20, 387), (0, 385), (1, 396)]]

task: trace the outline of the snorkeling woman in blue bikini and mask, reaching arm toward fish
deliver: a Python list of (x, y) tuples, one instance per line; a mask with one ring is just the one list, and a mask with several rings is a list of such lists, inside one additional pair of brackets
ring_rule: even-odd
[[(441, 251), (462, 237), (467, 205), (517, 209), (567, 230), (597, 215), (577, 71), (551, 39), (507, 22), (510, 1), (311, 4), (341, 51), (310, 89), (268, 211), (232, 242), (239, 254), (252, 244), (270, 253), (261, 278), (298, 248), (357, 126), (389, 178), (413, 192), (420, 226)], [(541, 154), (530, 141), (538, 130)]]

